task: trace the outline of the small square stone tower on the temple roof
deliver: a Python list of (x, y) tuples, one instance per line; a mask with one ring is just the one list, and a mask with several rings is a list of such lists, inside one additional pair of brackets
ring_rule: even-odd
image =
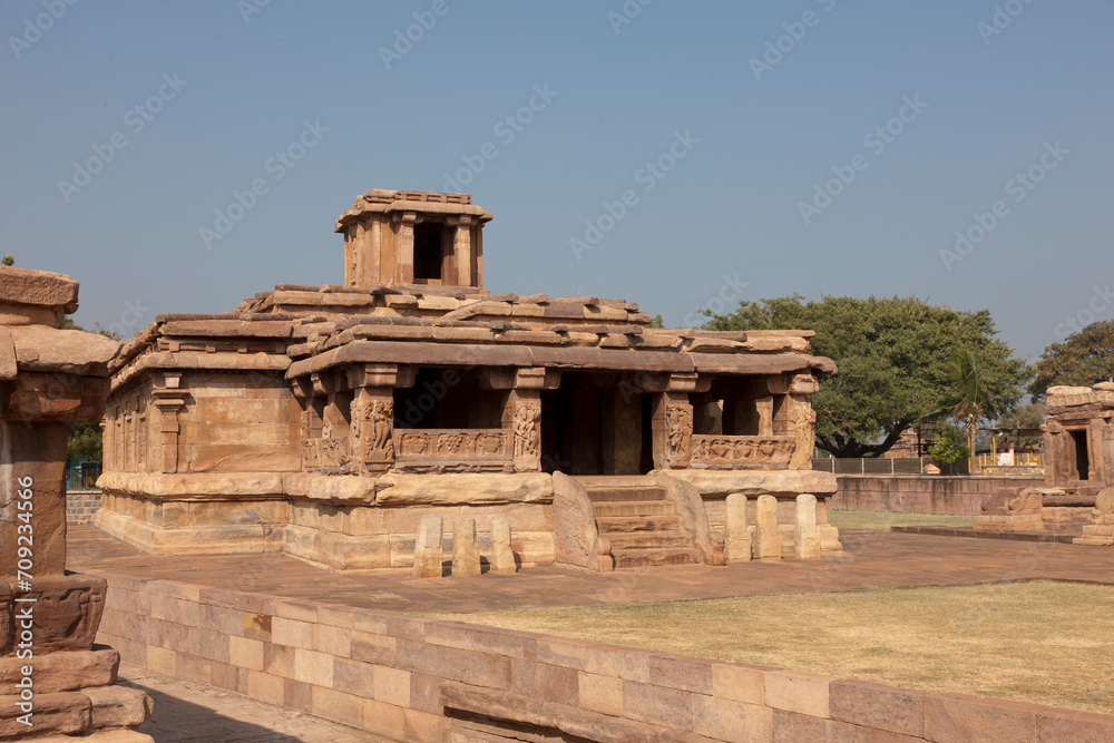
[(483, 289), (483, 225), (490, 219), (468, 194), (368, 192), (336, 221), (344, 235), (344, 285)]

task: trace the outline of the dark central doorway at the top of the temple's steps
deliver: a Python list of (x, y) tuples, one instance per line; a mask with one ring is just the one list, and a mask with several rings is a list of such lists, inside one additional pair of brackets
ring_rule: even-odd
[(561, 374), (541, 393), (541, 467), (566, 475), (645, 475), (654, 468), (651, 395), (619, 374)]

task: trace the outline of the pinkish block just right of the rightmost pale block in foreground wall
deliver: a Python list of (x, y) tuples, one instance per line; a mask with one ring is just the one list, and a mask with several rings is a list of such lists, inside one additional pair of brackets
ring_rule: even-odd
[(829, 685), (829, 710), (832, 720), (922, 737), (925, 696), (910, 688), (837, 680)]

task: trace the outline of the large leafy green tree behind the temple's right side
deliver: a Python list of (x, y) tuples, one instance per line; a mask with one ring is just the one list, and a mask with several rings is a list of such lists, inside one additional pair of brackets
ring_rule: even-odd
[(878, 457), (901, 432), (939, 405), (956, 352), (977, 360), (995, 403), (1010, 410), (1030, 372), (998, 338), (989, 310), (961, 312), (917, 297), (789, 296), (741, 302), (713, 315), (707, 330), (814, 330), (813, 353), (830, 356), (839, 374), (820, 381), (817, 446), (836, 457)]

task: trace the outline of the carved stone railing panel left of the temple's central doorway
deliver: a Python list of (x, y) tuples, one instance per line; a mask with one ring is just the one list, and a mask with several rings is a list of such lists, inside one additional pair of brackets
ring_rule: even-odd
[(514, 431), (501, 428), (395, 430), (394, 467), (409, 472), (514, 471)]

